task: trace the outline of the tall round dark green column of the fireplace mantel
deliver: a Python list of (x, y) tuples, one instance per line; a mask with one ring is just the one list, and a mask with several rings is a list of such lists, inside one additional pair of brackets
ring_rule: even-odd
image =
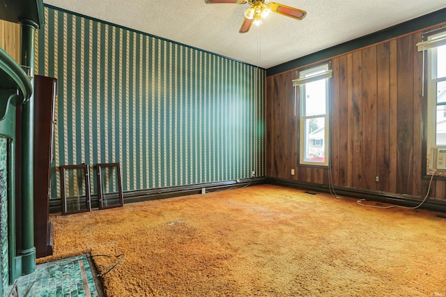
[[(36, 22), (20, 20), (22, 26), (22, 52), (20, 63), (29, 70), (31, 86), (34, 89), (34, 54)], [(34, 145), (34, 93), (22, 105), (20, 123), (20, 232), (22, 274), (36, 270), (36, 248), (34, 247), (34, 186), (33, 186), (33, 145)]]

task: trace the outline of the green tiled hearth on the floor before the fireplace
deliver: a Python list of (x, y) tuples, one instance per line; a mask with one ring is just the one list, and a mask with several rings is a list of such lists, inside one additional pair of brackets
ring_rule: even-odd
[(17, 281), (20, 297), (100, 297), (88, 254), (40, 264)]

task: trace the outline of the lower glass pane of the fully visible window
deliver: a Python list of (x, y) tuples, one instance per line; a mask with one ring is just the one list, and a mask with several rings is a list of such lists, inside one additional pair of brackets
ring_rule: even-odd
[(325, 161), (324, 118), (305, 119), (305, 162)]

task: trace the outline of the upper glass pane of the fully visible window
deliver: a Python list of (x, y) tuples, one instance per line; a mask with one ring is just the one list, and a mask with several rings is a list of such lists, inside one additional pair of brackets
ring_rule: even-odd
[(303, 89), (302, 100), (305, 100), (305, 105), (302, 116), (325, 114), (325, 79), (309, 82)]

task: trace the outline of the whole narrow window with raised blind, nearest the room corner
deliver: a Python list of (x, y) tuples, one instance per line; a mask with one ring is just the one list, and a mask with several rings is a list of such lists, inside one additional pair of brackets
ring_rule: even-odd
[(329, 64), (302, 70), (293, 81), (300, 92), (300, 164), (328, 166)]

